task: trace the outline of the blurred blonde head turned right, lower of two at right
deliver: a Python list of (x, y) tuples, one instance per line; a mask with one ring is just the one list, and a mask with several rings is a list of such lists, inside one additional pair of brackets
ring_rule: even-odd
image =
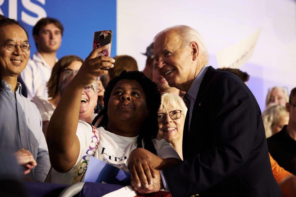
[(278, 133), (288, 124), (289, 113), (282, 105), (271, 103), (262, 114), (266, 138)]

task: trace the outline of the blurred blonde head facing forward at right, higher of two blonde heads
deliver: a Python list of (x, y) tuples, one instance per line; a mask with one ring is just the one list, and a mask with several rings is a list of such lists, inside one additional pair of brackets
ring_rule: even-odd
[(288, 100), (289, 96), (286, 89), (282, 87), (272, 87), (268, 90), (266, 96), (266, 107), (271, 103), (286, 106)]

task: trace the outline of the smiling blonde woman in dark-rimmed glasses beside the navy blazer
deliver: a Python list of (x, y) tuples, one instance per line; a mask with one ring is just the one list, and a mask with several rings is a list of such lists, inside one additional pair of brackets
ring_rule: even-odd
[(184, 122), (187, 113), (181, 97), (164, 93), (158, 110), (158, 134), (156, 139), (165, 139), (177, 151), (181, 159)]

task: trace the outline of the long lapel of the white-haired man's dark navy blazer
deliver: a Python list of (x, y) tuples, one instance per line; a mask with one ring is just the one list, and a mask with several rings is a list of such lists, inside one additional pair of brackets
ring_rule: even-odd
[[(191, 122), (190, 122), (190, 131), (189, 131), (189, 136), (188, 136), (189, 137), (189, 144), (188, 144), (189, 147), (192, 147), (193, 140), (196, 139), (196, 138), (194, 138), (194, 134), (196, 132), (199, 132), (198, 128), (196, 126), (198, 123), (198, 118), (201, 115), (200, 109), (203, 104), (203, 99), (204, 99), (205, 93), (207, 92), (207, 87), (210, 84), (210, 81), (212, 79), (214, 71), (216, 71), (216, 69), (214, 69), (212, 66), (209, 66), (209, 68), (207, 69), (207, 72), (205, 73), (205, 76), (202, 79), (202, 82), (200, 84), (200, 89), (198, 90), (197, 97), (195, 98)], [(188, 125), (188, 123), (187, 123), (187, 125)], [(185, 126), (184, 126), (184, 128), (185, 128)], [(190, 149), (188, 149), (188, 151), (190, 151)]]

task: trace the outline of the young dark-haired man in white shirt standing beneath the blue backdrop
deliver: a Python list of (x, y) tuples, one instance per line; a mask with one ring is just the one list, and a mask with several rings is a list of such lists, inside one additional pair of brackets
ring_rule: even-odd
[(46, 83), (57, 62), (57, 50), (62, 42), (63, 25), (53, 18), (42, 18), (33, 27), (37, 52), (29, 59), (21, 77), (28, 91), (28, 99), (34, 96), (48, 98)]

